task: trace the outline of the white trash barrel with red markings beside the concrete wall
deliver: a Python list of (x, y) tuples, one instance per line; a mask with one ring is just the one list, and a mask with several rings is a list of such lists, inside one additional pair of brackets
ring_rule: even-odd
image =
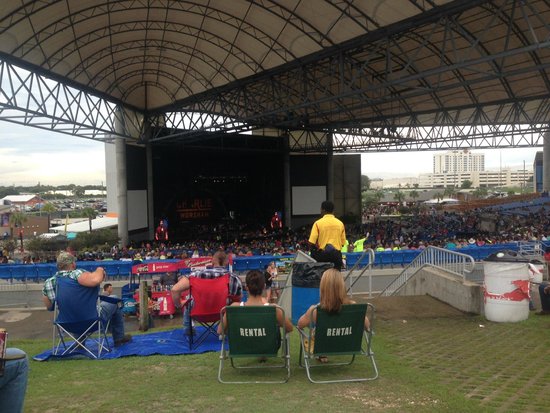
[(499, 251), (483, 262), (485, 318), (513, 323), (529, 317), (529, 260), (515, 251)]

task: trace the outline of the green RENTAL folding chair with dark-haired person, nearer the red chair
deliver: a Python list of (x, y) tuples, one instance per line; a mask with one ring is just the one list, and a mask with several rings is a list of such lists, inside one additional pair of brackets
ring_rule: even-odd
[[(277, 308), (269, 306), (227, 306), (221, 311), (221, 323), (224, 334), (220, 351), (218, 381), (220, 383), (286, 383), (290, 377), (290, 345), (284, 328), (277, 323)], [(227, 315), (226, 326), (224, 314)], [(227, 330), (227, 331), (226, 331)], [(227, 348), (225, 338), (227, 337)], [(251, 360), (250, 359), (256, 359)], [(281, 358), (282, 363), (272, 364), (269, 358)], [(231, 361), (231, 367), (237, 370), (286, 369), (286, 375), (280, 380), (227, 381), (222, 378), (225, 360)], [(248, 361), (235, 359), (248, 359)], [(246, 364), (248, 363), (248, 364)], [(271, 374), (269, 374), (271, 376)]]

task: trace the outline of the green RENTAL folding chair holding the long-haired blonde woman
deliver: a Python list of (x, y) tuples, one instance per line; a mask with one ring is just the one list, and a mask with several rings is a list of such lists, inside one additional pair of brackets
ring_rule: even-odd
[[(369, 315), (370, 329), (365, 331), (365, 315)], [(300, 367), (305, 367), (307, 377), (312, 383), (341, 383), (368, 381), (378, 378), (378, 368), (372, 352), (372, 334), (374, 326), (374, 306), (372, 304), (346, 304), (337, 314), (330, 314), (317, 305), (313, 310), (316, 322), (311, 322), (309, 331), (298, 328), (300, 333)], [(312, 317), (314, 318), (314, 317)], [(373, 373), (367, 366), (360, 377), (314, 379), (315, 369), (347, 366), (353, 363), (355, 356), (366, 356), (372, 365)], [(335, 357), (336, 356), (336, 357)], [(348, 357), (349, 356), (349, 357)], [(327, 363), (318, 363), (319, 357), (327, 357)], [(334, 359), (336, 361), (334, 361)]]

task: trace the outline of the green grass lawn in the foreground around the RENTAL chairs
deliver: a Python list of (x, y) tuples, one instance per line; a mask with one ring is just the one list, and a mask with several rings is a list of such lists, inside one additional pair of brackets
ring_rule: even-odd
[[(10, 343), (35, 355), (48, 340)], [(292, 333), (287, 384), (217, 382), (218, 353), (109, 361), (31, 361), (28, 412), (545, 412), (550, 317), (517, 324), (481, 317), (379, 321), (376, 381), (315, 385)], [(366, 368), (361, 361), (348, 371)]]

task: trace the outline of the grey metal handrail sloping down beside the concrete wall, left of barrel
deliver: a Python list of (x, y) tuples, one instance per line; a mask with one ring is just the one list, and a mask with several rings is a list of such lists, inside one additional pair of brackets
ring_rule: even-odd
[(394, 295), (420, 268), (426, 265), (444, 268), (446, 271), (465, 279), (466, 274), (474, 270), (475, 260), (472, 256), (460, 252), (445, 248), (428, 247), (405, 267), (401, 274), (380, 293), (380, 296)]

